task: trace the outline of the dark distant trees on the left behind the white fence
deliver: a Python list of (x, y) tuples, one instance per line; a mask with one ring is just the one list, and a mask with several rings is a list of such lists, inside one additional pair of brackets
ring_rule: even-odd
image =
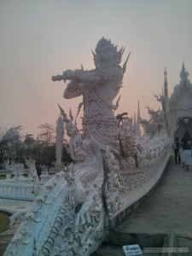
[[(26, 159), (36, 160), (37, 168), (54, 166), (55, 162), (55, 128), (53, 125), (43, 124), (38, 126), (38, 137), (26, 133), (21, 135), (20, 125), (12, 126), (7, 131), (0, 129), (0, 166), (9, 160), (25, 163)], [(71, 162), (70, 154), (67, 154), (67, 141), (63, 142), (62, 161)]]

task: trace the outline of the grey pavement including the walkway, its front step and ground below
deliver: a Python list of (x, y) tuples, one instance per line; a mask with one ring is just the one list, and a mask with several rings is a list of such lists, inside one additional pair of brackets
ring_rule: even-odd
[(192, 167), (187, 172), (172, 160), (154, 192), (110, 232), (108, 241), (93, 255), (125, 255), (122, 245), (138, 243), (142, 247), (188, 247), (189, 253), (168, 255), (192, 256)]

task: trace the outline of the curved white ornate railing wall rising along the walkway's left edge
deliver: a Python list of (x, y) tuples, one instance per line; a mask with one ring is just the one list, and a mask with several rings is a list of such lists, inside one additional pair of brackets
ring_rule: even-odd
[(121, 206), (106, 219), (106, 228), (111, 229), (128, 215), (134, 205), (154, 188), (160, 180), (170, 159), (169, 148), (153, 160), (153, 164), (120, 172), (119, 181), (124, 188), (119, 195)]

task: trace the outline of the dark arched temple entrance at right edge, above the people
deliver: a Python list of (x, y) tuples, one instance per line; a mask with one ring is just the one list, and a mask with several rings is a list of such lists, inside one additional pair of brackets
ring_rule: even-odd
[(177, 131), (175, 131), (174, 137), (178, 137), (179, 141), (182, 139), (192, 140), (192, 117), (177, 119)]

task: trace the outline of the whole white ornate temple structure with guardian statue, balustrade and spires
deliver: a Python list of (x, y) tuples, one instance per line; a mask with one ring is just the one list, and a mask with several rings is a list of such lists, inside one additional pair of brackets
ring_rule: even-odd
[[(179, 102), (179, 92), (192, 92), (188, 73), (183, 67), (181, 82), (169, 99), (165, 71), (164, 94), (157, 97), (163, 110), (159, 113), (148, 108), (151, 119), (143, 120), (145, 134), (141, 136), (139, 108), (135, 122), (125, 116), (117, 119), (113, 113), (119, 105), (119, 100), (113, 103), (113, 99), (119, 94), (129, 59), (128, 55), (120, 66), (124, 50), (102, 38), (93, 52), (95, 69), (67, 70), (52, 78), (69, 81), (66, 99), (83, 96), (79, 105), (84, 108), (83, 131), (79, 131), (72, 113), (67, 117), (60, 107), (57, 173), (40, 189), (35, 183), (32, 207), (26, 211), (5, 256), (90, 255), (108, 230), (160, 179), (170, 157), (172, 132), (181, 132), (174, 128), (177, 119), (191, 116), (189, 104), (180, 103), (179, 109), (174, 105)], [(172, 132), (171, 124), (175, 124)], [(73, 163), (69, 166), (61, 163), (63, 127), (70, 137), (68, 149)]]

